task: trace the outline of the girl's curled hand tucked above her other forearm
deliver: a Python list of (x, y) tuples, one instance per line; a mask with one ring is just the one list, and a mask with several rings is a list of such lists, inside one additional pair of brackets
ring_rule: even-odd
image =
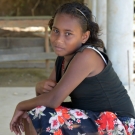
[(41, 95), (45, 92), (51, 91), (56, 86), (56, 82), (52, 80), (46, 80), (37, 83), (36, 85), (36, 95)]

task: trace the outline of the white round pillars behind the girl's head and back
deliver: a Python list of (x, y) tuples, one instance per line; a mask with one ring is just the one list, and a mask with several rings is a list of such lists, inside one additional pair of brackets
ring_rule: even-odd
[(134, 0), (84, 0), (102, 30), (101, 39), (123, 84), (133, 84), (133, 16)]

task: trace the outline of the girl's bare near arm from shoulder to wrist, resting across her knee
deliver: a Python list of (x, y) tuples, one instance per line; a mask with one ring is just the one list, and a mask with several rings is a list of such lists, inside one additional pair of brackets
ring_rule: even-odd
[(85, 49), (82, 53), (76, 54), (60, 82), (52, 91), (22, 101), (17, 105), (10, 123), (11, 131), (13, 130), (13, 123), (18, 120), (22, 111), (31, 110), (36, 106), (57, 108), (87, 76), (100, 73), (104, 67), (105, 64), (101, 57), (91, 49)]

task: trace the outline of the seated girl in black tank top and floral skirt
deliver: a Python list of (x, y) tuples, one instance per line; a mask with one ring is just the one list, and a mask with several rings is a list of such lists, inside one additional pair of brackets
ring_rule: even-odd
[[(17, 105), (11, 131), (21, 134), (26, 118), (33, 123), (33, 135), (135, 135), (132, 102), (109, 58), (99, 51), (104, 47), (91, 11), (66, 3), (49, 27), (58, 55), (55, 68), (46, 82), (38, 83), (37, 97)], [(67, 96), (71, 102), (63, 102)]]

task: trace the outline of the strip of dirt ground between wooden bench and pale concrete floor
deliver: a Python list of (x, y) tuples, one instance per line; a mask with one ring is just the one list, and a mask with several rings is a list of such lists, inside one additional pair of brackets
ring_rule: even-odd
[(0, 87), (34, 87), (46, 80), (52, 69), (0, 69)]

